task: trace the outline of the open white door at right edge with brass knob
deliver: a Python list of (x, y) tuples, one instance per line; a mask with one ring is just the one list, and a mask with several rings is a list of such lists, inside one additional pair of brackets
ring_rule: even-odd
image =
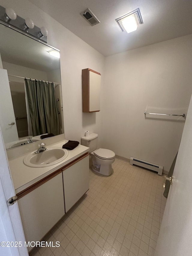
[(192, 255), (192, 98), (173, 176), (155, 256)]

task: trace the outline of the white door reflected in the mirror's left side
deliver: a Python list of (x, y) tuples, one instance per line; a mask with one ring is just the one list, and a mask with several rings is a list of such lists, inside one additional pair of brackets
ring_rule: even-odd
[[(19, 140), (7, 70), (0, 68), (0, 125), (4, 143)], [(11, 122), (14, 122), (13, 125)]]

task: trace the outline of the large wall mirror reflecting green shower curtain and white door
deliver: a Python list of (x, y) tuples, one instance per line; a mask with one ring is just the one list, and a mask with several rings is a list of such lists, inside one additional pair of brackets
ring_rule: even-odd
[(64, 133), (60, 59), (49, 54), (54, 49), (2, 24), (0, 33), (0, 125), (6, 148)]

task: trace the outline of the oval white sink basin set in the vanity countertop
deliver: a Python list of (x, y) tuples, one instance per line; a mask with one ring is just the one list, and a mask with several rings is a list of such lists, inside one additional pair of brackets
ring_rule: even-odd
[(30, 153), (23, 159), (23, 163), (29, 167), (47, 167), (63, 161), (68, 153), (67, 149), (52, 147), (38, 154)]

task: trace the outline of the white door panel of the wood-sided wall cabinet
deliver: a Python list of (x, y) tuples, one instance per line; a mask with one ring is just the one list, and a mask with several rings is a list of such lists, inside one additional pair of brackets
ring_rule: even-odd
[(89, 71), (89, 111), (100, 110), (101, 75)]

